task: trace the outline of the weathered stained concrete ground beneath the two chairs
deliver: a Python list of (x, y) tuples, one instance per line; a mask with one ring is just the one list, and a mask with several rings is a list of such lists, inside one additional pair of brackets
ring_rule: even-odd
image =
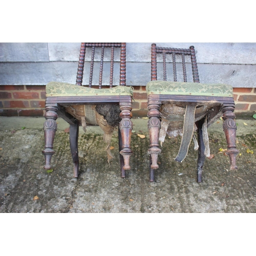
[[(236, 120), (238, 170), (230, 171), (228, 157), (218, 154), (220, 147), (226, 148), (222, 121), (209, 128), (215, 157), (206, 159), (200, 184), (193, 145), (183, 163), (174, 161), (180, 138), (166, 139), (156, 181), (148, 181), (145, 119), (133, 120), (132, 169), (126, 178), (120, 178), (117, 133), (112, 141), (115, 158), (109, 166), (98, 127), (79, 133), (80, 176), (73, 178), (69, 134), (63, 131), (68, 125), (57, 120), (54, 171), (47, 174), (41, 154), (44, 118), (0, 117), (0, 212), (256, 212), (256, 120), (252, 117)], [(254, 153), (247, 153), (247, 148)]]

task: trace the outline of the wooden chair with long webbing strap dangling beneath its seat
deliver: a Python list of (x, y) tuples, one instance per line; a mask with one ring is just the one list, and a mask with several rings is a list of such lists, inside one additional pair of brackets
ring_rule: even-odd
[[(198, 148), (197, 181), (202, 181), (205, 157), (212, 158), (209, 152), (207, 127), (221, 116), (224, 120), (223, 131), (227, 140), (226, 155), (230, 158), (231, 169), (237, 169), (236, 123), (234, 122), (233, 90), (228, 84), (200, 83), (194, 46), (189, 49), (157, 47), (152, 44), (151, 82), (146, 85), (148, 108), (148, 131), (150, 134), (150, 181), (154, 181), (158, 155), (166, 133), (169, 136), (182, 135), (176, 161), (182, 162), (188, 152), (191, 139)], [(163, 63), (162, 80), (157, 80), (157, 56)], [(190, 56), (190, 58), (189, 58)], [(178, 60), (177, 58), (180, 58)], [(167, 58), (172, 59), (168, 62)], [(191, 61), (193, 81), (187, 81), (185, 62)], [(170, 64), (170, 62), (173, 62)], [(179, 63), (178, 63), (179, 62)], [(159, 64), (158, 64), (159, 65)], [(173, 67), (172, 67), (173, 66)], [(173, 69), (173, 76), (166, 74), (166, 67)], [(178, 68), (181, 69), (178, 72)], [(182, 77), (183, 82), (177, 82)], [(167, 78), (173, 81), (167, 81)], [(183, 126), (183, 129), (182, 129)], [(197, 132), (198, 143), (194, 136)]]

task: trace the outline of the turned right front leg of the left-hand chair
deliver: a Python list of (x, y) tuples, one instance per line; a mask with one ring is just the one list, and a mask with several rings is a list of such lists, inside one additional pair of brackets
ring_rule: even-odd
[[(119, 129), (121, 132), (121, 138), (122, 138), (122, 150), (120, 151), (120, 154), (123, 156), (124, 160), (124, 170), (131, 169), (130, 166), (130, 157), (132, 155), (131, 150), (131, 136), (132, 136), (132, 130), (133, 130), (133, 123), (131, 121), (132, 118), (132, 104), (131, 103), (120, 103), (120, 117), (121, 122), (119, 124)], [(121, 174), (122, 177), (124, 177), (124, 174)]]

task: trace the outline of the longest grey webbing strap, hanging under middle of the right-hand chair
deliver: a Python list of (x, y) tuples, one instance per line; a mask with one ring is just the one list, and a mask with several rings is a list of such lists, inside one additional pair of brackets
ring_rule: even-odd
[(180, 163), (186, 157), (188, 152), (188, 146), (193, 137), (196, 108), (196, 105), (186, 105), (180, 150), (177, 157), (175, 158), (175, 161)]

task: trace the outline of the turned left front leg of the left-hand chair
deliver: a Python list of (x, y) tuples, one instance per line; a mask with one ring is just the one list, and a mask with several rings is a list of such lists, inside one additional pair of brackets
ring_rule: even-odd
[(46, 107), (46, 114), (45, 114), (46, 121), (44, 123), (44, 131), (45, 131), (45, 149), (42, 153), (45, 155), (45, 169), (51, 169), (51, 158), (52, 155), (55, 153), (53, 150), (53, 141), (55, 132), (57, 131), (57, 123), (56, 119), (58, 118), (57, 115), (57, 107), (56, 106), (47, 106)]

